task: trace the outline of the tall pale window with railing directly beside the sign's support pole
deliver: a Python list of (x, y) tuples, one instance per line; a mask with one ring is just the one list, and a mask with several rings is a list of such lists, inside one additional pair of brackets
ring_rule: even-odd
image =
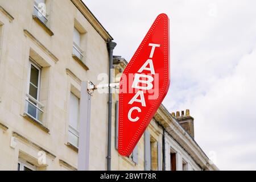
[(69, 100), (68, 142), (75, 147), (79, 147), (79, 114), (80, 100), (75, 94), (71, 93)]

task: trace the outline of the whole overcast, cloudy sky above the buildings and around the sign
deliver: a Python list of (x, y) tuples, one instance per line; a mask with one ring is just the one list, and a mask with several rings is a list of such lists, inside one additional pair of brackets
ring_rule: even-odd
[(171, 87), (163, 104), (190, 109), (195, 139), (218, 168), (256, 170), (256, 1), (85, 4), (131, 59), (156, 16), (170, 18)]

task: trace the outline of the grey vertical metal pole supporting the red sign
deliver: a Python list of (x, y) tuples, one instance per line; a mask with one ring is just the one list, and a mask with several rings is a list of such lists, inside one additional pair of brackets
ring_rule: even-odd
[(90, 109), (92, 92), (89, 91), (93, 85), (90, 81), (82, 81), (80, 98), (80, 132), (79, 132), (79, 157), (78, 170), (89, 171), (90, 155)]

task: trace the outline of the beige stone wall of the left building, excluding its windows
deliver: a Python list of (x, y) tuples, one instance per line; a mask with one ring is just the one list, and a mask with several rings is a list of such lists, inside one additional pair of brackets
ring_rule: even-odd
[[(105, 40), (71, 1), (47, 0), (47, 26), (53, 36), (32, 18), (33, 5), (33, 0), (0, 1), (0, 6), (9, 13), (0, 11), (0, 123), (9, 127), (5, 132), (0, 129), (0, 170), (16, 170), (22, 154), (36, 163), (42, 150), (49, 152), (47, 167), (39, 169), (67, 168), (60, 161), (77, 167), (77, 152), (66, 145), (69, 94), (72, 88), (80, 90), (81, 81), (97, 82), (98, 73), (108, 73)], [(72, 58), (75, 20), (87, 32), (82, 47), (89, 71)], [(40, 95), (45, 105), (44, 125), (49, 133), (23, 115), (30, 56), (43, 67)], [(107, 94), (94, 94), (90, 169), (106, 169), (107, 102)], [(10, 147), (11, 137), (16, 140), (14, 148)]]

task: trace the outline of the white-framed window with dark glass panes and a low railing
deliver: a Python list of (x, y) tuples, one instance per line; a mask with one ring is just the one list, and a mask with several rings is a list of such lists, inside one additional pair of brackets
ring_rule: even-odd
[(28, 90), (26, 94), (26, 114), (43, 123), (43, 104), (40, 103), (41, 68), (30, 60), (28, 68)]

